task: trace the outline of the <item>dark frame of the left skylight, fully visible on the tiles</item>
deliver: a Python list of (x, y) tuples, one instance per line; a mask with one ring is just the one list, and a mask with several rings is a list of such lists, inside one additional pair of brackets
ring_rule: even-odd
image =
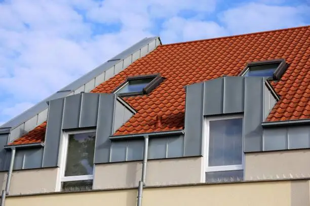
[[(132, 80), (139, 80), (139, 79), (148, 79), (153, 78), (143, 89), (142, 91), (134, 91), (134, 92), (126, 92), (126, 93), (117, 93), (122, 88), (124, 88), (126, 85), (129, 84)], [(147, 74), (147, 75), (139, 75), (139, 76), (132, 76), (127, 77), (126, 81), (123, 82), (120, 86), (115, 88), (112, 93), (117, 94), (119, 96), (134, 96), (134, 95), (143, 95), (150, 93), (154, 88), (156, 88), (162, 81), (164, 80), (163, 77), (161, 77), (160, 74)]]

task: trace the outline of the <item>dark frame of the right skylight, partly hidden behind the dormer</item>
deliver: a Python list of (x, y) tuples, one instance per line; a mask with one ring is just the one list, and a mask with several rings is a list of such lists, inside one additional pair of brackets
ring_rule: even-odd
[(273, 76), (270, 77), (270, 79), (280, 80), (282, 75), (285, 73), (286, 69), (288, 68), (288, 64), (286, 63), (285, 59), (275, 59), (275, 60), (266, 60), (266, 61), (247, 63), (246, 67), (242, 70), (239, 76), (244, 76), (253, 66), (261, 66), (261, 65), (276, 64), (276, 63), (280, 63), (280, 64), (278, 68), (275, 70)]

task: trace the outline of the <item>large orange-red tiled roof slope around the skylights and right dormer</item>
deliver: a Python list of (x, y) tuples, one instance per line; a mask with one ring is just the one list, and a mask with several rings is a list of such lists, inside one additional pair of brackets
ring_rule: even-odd
[(124, 97), (137, 113), (114, 135), (183, 129), (183, 86), (237, 76), (248, 62), (274, 59), (289, 68), (273, 83), (281, 99), (266, 121), (309, 119), (310, 26), (160, 45), (92, 92), (110, 93), (127, 76), (160, 73), (166, 79), (149, 95)]

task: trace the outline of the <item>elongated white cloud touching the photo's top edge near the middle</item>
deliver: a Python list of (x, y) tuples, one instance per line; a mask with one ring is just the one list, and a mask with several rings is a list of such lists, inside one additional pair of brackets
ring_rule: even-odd
[(184, 11), (207, 14), (215, 10), (215, 5), (216, 0), (105, 0), (100, 2), (99, 7), (90, 10), (88, 16), (103, 23), (129, 24), (135, 24), (138, 19), (132, 18), (135, 16), (139, 17), (139, 24), (140, 21), (177, 16)]

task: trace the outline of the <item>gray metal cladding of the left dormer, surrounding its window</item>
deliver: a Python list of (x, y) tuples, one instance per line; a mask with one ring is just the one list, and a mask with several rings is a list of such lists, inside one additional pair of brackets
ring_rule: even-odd
[(122, 102), (115, 94), (107, 93), (82, 93), (50, 101), (43, 167), (59, 166), (58, 152), (63, 131), (88, 128), (96, 128), (94, 163), (109, 162), (109, 136), (114, 125), (122, 125), (134, 113)]

